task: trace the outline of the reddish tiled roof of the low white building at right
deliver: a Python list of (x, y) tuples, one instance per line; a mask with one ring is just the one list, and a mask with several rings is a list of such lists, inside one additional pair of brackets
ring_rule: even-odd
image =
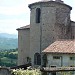
[(58, 40), (48, 46), (44, 53), (75, 53), (75, 40)]

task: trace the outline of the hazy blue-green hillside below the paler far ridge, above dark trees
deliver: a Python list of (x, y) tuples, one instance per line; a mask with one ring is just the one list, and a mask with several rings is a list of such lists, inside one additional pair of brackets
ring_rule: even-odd
[(15, 49), (17, 47), (18, 47), (17, 38), (1, 38), (0, 37), (0, 51)]

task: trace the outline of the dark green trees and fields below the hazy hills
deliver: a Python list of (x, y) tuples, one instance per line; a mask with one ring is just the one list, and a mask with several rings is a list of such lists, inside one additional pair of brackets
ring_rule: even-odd
[(0, 66), (12, 67), (17, 65), (17, 49), (0, 51)]

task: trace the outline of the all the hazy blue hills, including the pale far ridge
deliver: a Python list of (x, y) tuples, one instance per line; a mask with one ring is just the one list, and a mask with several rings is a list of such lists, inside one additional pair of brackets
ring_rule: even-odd
[(17, 35), (0, 33), (0, 50), (9, 50), (18, 48)]

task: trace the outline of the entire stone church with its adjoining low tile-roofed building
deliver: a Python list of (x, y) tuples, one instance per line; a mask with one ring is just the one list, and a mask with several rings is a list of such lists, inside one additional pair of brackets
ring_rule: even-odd
[(74, 66), (75, 22), (61, 0), (29, 5), (30, 25), (18, 28), (18, 65)]

